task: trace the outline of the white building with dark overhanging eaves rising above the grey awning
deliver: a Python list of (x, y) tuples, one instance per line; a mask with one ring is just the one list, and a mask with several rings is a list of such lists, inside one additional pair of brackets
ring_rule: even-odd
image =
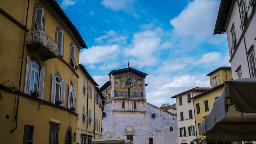
[[(214, 34), (227, 34), (233, 79), (256, 76), (255, 4), (255, 0), (222, 0), (219, 6)], [(256, 144), (256, 141), (243, 143)]]

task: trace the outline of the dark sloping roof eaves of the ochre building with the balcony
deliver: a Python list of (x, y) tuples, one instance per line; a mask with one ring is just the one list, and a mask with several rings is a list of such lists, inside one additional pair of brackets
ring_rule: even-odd
[(53, 10), (56, 11), (56, 13), (59, 15), (59, 17), (65, 22), (65, 24), (69, 27), (69, 29), (72, 31), (74, 34), (76, 40), (78, 43), (81, 45), (82, 48), (87, 48), (84, 39), (82, 38), (81, 34), (79, 31), (76, 29), (76, 27), (73, 25), (73, 23), (70, 21), (68, 16), (63, 12), (63, 10), (60, 8), (59, 4), (55, 0), (45, 0), (47, 1), (52, 7)]

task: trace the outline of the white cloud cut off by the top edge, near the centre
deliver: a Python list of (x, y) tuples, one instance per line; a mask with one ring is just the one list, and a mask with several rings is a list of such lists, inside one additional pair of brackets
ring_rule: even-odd
[(135, 0), (103, 0), (101, 5), (113, 11), (127, 10)]

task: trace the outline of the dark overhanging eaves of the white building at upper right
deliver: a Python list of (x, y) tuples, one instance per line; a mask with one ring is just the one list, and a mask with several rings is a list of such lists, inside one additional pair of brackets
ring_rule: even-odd
[(226, 30), (224, 28), (228, 19), (231, 4), (232, 0), (221, 0), (213, 34), (226, 33)]

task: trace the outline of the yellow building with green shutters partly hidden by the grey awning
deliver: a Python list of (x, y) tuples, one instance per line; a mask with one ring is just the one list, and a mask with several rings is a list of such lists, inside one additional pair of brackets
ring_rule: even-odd
[(231, 67), (219, 67), (207, 76), (210, 77), (211, 89), (191, 98), (194, 102), (197, 138), (205, 138), (199, 135), (198, 125), (202, 123), (202, 117), (212, 110), (214, 100), (223, 91), (224, 82), (232, 79)]

